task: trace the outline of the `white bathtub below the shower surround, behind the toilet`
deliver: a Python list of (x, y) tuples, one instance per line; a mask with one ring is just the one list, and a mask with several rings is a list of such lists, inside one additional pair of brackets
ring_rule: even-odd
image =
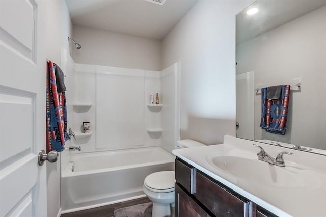
[(62, 168), (62, 213), (143, 197), (145, 177), (174, 170), (174, 159), (161, 147), (76, 153)]

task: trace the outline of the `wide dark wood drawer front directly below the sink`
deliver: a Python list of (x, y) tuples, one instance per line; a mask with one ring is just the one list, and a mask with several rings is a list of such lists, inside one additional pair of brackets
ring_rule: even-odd
[(249, 202), (196, 172), (196, 198), (216, 216), (248, 216)]

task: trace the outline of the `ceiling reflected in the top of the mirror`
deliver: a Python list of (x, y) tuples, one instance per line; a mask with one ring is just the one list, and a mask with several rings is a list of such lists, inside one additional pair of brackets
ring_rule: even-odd
[[(236, 16), (236, 42), (257, 37), (326, 5), (326, 0), (258, 0)], [(258, 13), (247, 15), (249, 8)]]

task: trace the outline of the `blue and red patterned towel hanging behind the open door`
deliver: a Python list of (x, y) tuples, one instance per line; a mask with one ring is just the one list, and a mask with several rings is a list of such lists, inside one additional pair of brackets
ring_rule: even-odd
[[(58, 93), (56, 67), (51, 61), (47, 62), (46, 70), (46, 151), (63, 151), (65, 142), (69, 139), (67, 133), (67, 110), (65, 88)], [(58, 70), (57, 70), (58, 71)], [(61, 71), (61, 69), (60, 69)], [(62, 71), (61, 71), (62, 72)], [(60, 81), (63, 83), (63, 81)]]

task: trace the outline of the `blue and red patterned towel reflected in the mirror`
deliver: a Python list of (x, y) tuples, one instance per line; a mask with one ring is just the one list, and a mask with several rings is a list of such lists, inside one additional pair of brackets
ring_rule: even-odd
[[(281, 89), (279, 98), (275, 97), (278, 88)], [(268, 88), (261, 89), (260, 127), (267, 132), (284, 135), (289, 107), (290, 85), (274, 86), (271, 89), (273, 90), (271, 94)]]

